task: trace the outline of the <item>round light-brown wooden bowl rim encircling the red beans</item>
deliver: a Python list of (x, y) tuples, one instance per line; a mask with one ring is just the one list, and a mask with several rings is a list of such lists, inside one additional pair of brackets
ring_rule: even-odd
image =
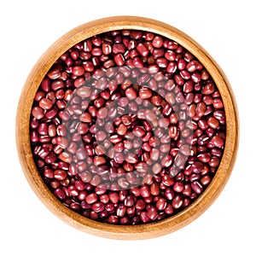
[[(220, 166), (218, 166), (218, 171), (207, 189), (189, 207), (173, 217), (151, 224), (140, 224), (135, 226), (102, 224), (90, 220), (89, 218), (84, 218), (78, 213), (65, 207), (55, 198), (55, 195), (52, 194), (44, 183), (42, 177), (39, 175), (32, 157), (32, 149), (30, 145), (29, 120), (32, 110), (32, 102), (38, 90), (38, 86), (42, 79), (44, 79), (49, 68), (74, 44), (96, 34), (119, 29), (135, 29), (154, 32), (166, 38), (171, 38), (178, 44), (181, 44), (185, 49), (188, 49), (207, 68), (207, 71), (211, 74), (215, 84), (217, 84), (218, 90), (224, 101), (226, 115), (226, 142), (224, 155)], [(96, 236), (104, 236), (114, 239), (137, 240), (162, 236), (178, 230), (184, 225), (189, 224), (195, 218), (198, 218), (202, 212), (205, 212), (207, 208), (212, 205), (212, 202), (216, 200), (222, 189), (224, 189), (224, 185), (227, 183), (235, 163), (238, 145), (236, 102), (230, 84), (220, 67), (218, 67), (218, 64), (213, 61), (212, 57), (207, 54), (205, 49), (183, 32), (160, 21), (140, 17), (118, 16), (105, 18), (86, 23), (76, 27), (71, 32), (67, 32), (67, 34), (57, 40), (55, 44), (44, 53), (35, 67), (33, 67), (20, 96), (16, 116), (16, 143), (20, 164), (28, 183), (30, 183), (32, 189), (38, 195), (39, 199), (44, 202), (46, 207), (67, 224)]]

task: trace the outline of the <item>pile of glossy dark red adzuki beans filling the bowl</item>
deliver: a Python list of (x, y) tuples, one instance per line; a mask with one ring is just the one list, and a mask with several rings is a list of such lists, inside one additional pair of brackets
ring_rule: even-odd
[(52, 193), (86, 218), (145, 224), (188, 207), (224, 151), (224, 104), (187, 49), (152, 32), (87, 38), (34, 97), (32, 154)]

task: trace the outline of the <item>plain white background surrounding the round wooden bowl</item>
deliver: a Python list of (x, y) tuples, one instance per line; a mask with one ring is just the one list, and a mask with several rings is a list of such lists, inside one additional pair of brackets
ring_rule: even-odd
[[(256, 255), (254, 1), (2, 1), (0, 6), (1, 255)], [(15, 148), (20, 91), (39, 56), (61, 35), (90, 20), (139, 15), (189, 34), (218, 61), (238, 104), (236, 166), (218, 200), (192, 224), (145, 241), (115, 241), (64, 224), (26, 182)]]

